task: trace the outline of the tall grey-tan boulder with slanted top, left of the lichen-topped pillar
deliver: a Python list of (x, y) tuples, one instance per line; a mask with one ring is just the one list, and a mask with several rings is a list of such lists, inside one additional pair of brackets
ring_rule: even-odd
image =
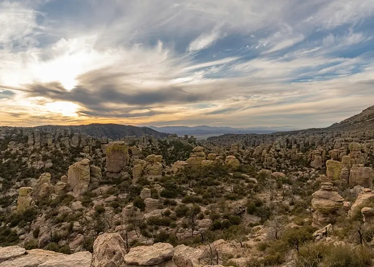
[(68, 170), (67, 191), (73, 191), (75, 196), (86, 192), (90, 184), (90, 160), (75, 162)]

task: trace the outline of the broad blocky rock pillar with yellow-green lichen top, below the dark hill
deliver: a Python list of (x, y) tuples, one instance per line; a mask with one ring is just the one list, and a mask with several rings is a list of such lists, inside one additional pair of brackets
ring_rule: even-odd
[(129, 146), (123, 141), (111, 142), (105, 148), (107, 172), (120, 173), (129, 162)]

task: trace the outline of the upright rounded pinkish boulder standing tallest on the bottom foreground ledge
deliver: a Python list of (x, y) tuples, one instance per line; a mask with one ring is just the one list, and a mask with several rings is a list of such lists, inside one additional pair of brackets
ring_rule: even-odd
[(121, 267), (126, 246), (119, 233), (103, 233), (93, 243), (92, 267)]

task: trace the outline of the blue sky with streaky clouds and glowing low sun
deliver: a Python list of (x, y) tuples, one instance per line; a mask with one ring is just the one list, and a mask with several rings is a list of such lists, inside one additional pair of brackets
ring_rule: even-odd
[(0, 125), (309, 128), (373, 105), (373, 0), (0, 0)]

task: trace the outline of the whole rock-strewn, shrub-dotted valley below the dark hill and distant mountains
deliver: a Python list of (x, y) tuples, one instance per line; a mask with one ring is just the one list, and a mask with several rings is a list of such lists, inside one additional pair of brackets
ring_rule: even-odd
[(373, 266), (362, 114), (201, 143), (0, 127), (0, 267)]

